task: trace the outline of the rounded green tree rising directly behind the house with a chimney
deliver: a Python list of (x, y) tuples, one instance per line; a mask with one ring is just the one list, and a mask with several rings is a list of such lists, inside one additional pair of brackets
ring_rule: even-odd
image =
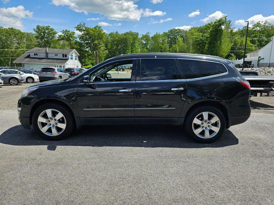
[(57, 31), (51, 28), (50, 26), (37, 25), (33, 29), (36, 33), (36, 39), (39, 47), (49, 47), (52, 48), (54, 40), (56, 39)]

